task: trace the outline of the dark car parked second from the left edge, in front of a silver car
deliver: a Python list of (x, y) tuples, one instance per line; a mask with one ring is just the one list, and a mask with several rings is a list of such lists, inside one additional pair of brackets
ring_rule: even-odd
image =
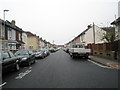
[(19, 50), (15, 55), (21, 58), (20, 65), (30, 66), (32, 63), (35, 63), (35, 54), (31, 50)]

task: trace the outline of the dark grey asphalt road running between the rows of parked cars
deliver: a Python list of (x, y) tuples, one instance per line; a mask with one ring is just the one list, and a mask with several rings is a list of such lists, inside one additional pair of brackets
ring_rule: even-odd
[(3, 88), (118, 88), (118, 70), (72, 59), (60, 50), (3, 76)]

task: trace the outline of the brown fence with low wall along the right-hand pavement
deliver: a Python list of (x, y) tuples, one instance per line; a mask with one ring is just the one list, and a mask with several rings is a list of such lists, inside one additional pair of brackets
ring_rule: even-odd
[(112, 57), (120, 57), (120, 40), (111, 43), (88, 44), (86, 48), (91, 49), (91, 54)]

